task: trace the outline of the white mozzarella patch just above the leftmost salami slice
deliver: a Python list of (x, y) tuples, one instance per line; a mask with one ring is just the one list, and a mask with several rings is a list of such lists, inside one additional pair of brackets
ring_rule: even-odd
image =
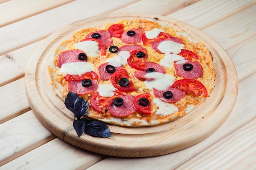
[(76, 49), (83, 50), (89, 57), (98, 57), (99, 56), (99, 46), (96, 41), (82, 41), (75, 44)]

